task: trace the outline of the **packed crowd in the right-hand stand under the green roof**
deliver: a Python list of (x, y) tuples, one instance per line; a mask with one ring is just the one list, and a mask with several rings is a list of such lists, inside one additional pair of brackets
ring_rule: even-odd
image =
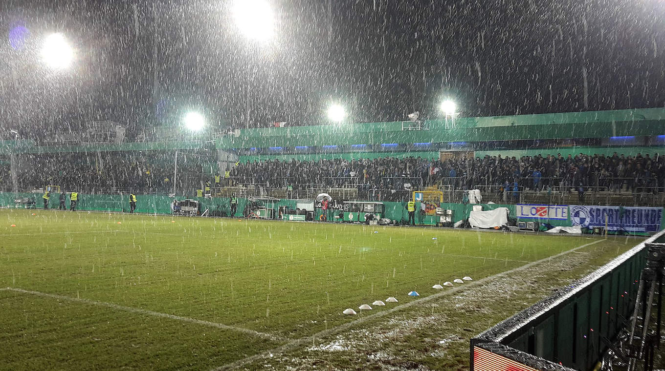
[(519, 190), (583, 190), (661, 192), (665, 185), (665, 158), (638, 153), (626, 156), (537, 155), (501, 157), (383, 157), (377, 159), (277, 159), (246, 162), (235, 167), (239, 184), (266, 187), (358, 187), (404, 189), (444, 186), (452, 190), (478, 186), (515, 187)]

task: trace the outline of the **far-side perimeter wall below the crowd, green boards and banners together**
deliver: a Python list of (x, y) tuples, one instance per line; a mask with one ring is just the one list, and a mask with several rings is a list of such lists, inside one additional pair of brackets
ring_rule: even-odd
[[(285, 206), (295, 210), (297, 204), (303, 199), (313, 200), (320, 190), (303, 190), (284, 192), (285, 194), (275, 202), (275, 207)], [(334, 188), (330, 190), (331, 194), (337, 200), (366, 200), (380, 201), (384, 204), (384, 218), (392, 220), (408, 219), (406, 211), (406, 201), (410, 199), (410, 192), (397, 190), (366, 190), (354, 194), (337, 192)], [(357, 192), (357, 190), (356, 190)], [(231, 216), (229, 196), (224, 194), (221, 197), (194, 197), (177, 196), (178, 200), (184, 198), (196, 198), (201, 202), (203, 210), (209, 209), (211, 214)], [(237, 212), (233, 216), (243, 216), (243, 211), (247, 201), (259, 194), (248, 194), (245, 192), (235, 192), (237, 197)], [(366, 196), (366, 198), (364, 198)], [(15, 200), (23, 198), (32, 198), (35, 200), (35, 206), (42, 207), (42, 194), (31, 192), (0, 192), (0, 206), (3, 207), (25, 207), (25, 204), (17, 204)], [(171, 214), (172, 202), (174, 198), (167, 194), (138, 194), (136, 212), (150, 214)], [(444, 198), (445, 199), (445, 198)], [(69, 204), (67, 197), (67, 206)], [(59, 194), (52, 193), (49, 202), (49, 208), (58, 208)], [(436, 226), (442, 224), (440, 215), (435, 214), (433, 207), (421, 208), (420, 202), (416, 202), (416, 224), (424, 226)], [(431, 205), (430, 205), (431, 206)], [(609, 233), (621, 234), (652, 234), (665, 228), (665, 218), (662, 218), (662, 207), (623, 207), (623, 206), (584, 206), (584, 205), (548, 205), (548, 204), (464, 204), (462, 202), (444, 202), (437, 204), (443, 210), (451, 210), (454, 216), (452, 222), (458, 222), (468, 218), (469, 212), (473, 206), (481, 206), (483, 210), (494, 210), (495, 208), (505, 207), (509, 210), (509, 218), (518, 222), (528, 221), (537, 222), (539, 226), (545, 229), (550, 226), (581, 226), (581, 228), (593, 230), (607, 230)], [(96, 210), (96, 211), (114, 211), (123, 212), (129, 210), (128, 194), (85, 194), (79, 193), (78, 210)], [(422, 210), (426, 209), (426, 210)], [(275, 211), (277, 215), (277, 211)], [(315, 213), (315, 219), (319, 219), (321, 210)]]

